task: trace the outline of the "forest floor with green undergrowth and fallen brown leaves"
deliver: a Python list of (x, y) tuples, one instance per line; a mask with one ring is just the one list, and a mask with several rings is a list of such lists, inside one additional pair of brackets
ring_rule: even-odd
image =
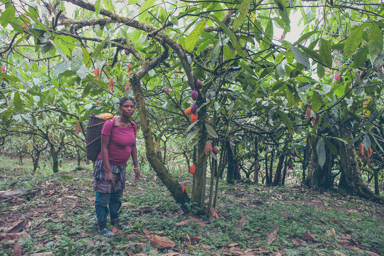
[[(127, 172), (129, 228), (106, 239), (89, 167), (31, 176), (1, 165), (0, 195), (33, 193), (0, 203), (0, 255), (384, 255), (384, 207), (340, 191), (221, 183), (218, 218), (200, 218), (184, 215), (153, 173), (133, 183)], [(189, 173), (174, 177), (191, 184)]]

